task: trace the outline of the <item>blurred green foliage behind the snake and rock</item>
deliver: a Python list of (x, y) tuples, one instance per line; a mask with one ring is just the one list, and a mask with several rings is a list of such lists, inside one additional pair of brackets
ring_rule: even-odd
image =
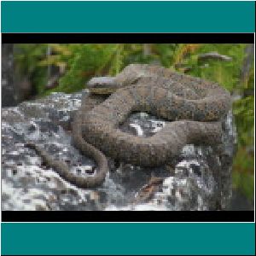
[[(233, 164), (234, 187), (253, 198), (254, 172), (254, 67), (247, 44), (16, 44), (18, 72), (26, 75), (38, 96), (52, 91), (71, 93), (94, 76), (115, 75), (130, 63), (159, 63), (182, 73), (222, 84), (239, 96), (233, 105), (238, 148)], [(201, 60), (218, 52), (231, 61)], [(58, 67), (57, 86), (47, 89), (49, 67)]]

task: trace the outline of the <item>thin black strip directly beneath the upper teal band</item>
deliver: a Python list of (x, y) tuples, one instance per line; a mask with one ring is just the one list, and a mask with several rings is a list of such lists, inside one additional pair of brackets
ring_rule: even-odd
[(2, 33), (2, 44), (250, 44), (254, 33)]

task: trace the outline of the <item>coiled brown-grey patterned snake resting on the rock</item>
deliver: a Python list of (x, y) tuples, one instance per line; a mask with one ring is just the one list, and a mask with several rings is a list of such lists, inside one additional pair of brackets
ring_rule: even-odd
[[(185, 144), (221, 143), (221, 120), (230, 109), (230, 93), (216, 83), (170, 69), (131, 64), (115, 77), (95, 78), (88, 83), (90, 96), (82, 99), (73, 121), (73, 141), (96, 161), (93, 177), (77, 177), (66, 163), (54, 160), (34, 143), (44, 163), (80, 188), (103, 183), (108, 160), (136, 166), (160, 166), (177, 155)], [(108, 96), (107, 96), (108, 95)], [(147, 112), (167, 119), (152, 137), (137, 137), (119, 130), (133, 112)]]

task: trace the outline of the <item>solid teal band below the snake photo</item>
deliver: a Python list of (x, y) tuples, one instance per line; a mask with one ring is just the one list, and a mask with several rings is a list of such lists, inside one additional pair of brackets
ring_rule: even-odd
[(255, 224), (3, 223), (2, 254), (253, 255)]

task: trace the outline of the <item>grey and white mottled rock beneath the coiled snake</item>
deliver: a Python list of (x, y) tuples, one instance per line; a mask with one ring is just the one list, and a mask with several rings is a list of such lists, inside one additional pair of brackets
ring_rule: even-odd
[[(53, 93), (15, 108), (2, 109), (3, 210), (221, 210), (229, 207), (236, 129), (231, 112), (223, 121), (219, 148), (186, 145), (169, 166), (141, 168), (109, 159), (110, 172), (101, 187), (78, 189), (44, 166), (29, 148), (34, 141), (70, 172), (90, 176), (93, 160), (73, 148), (70, 124), (82, 93)], [(164, 120), (133, 113), (120, 129), (148, 137)]]

